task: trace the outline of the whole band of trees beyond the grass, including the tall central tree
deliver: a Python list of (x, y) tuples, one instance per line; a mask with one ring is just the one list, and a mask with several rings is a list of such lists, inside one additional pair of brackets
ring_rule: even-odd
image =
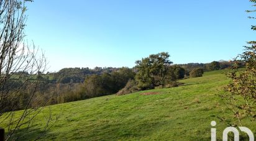
[[(29, 107), (179, 86), (180, 83), (176, 80), (203, 76), (204, 71), (221, 70), (234, 65), (232, 61), (173, 65), (169, 57), (170, 55), (166, 52), (149, 55), (149, 57), (135, 61), (134, 68), (64, 68), (57, 73), (42, 73)], [(243, 65), (244, 63), (239, 63), (239, 66)], [(12, 74), (13, 80), (18, 80), (21, 74), (24, 79), (34, 77), (29, 73), (18, 72)], [(32, 89), (22, 89), (19, 93), (23, 94), (22, 99), (10, 98), (15, 101), (15, 106), (7, 106), (6, 111), (11, 111), (13, 107), (24, 109), (29, 99), (27, 91), (32, 91)]]

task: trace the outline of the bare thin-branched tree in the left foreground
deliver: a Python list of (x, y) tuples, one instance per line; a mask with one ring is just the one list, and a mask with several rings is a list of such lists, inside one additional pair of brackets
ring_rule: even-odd
[[(45, 70), (46, 61), (43, 53), (39, 57), (34, 43), (32, 48), (24, 43), (25, 4), (28, 1), (32, 0), (0, 1), (0, 123), (7, 125), (4, 127), (8, 132), (7, 140), (15, 140), (17, 129), (32, 122), (42, 110), (40, 106), (29, 109), (40, 83), (39, 72)], [(26, 77), (27, 72), (32, 76)], [(24, 104), (22, 114), (15, 112), (19, 109), (16, 101)], [(10, 112), (5, 114), (6, 111)]]

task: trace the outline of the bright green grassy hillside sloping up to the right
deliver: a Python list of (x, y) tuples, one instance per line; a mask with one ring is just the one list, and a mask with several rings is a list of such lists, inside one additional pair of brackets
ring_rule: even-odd
[[(227, 125), (218, 117), (232, 119), (232, 115), (217, 94), (223, 93), (228, 81), (224, 71), (210, 71), (201, 78), (181, 80), (185, 84), (178, 88), (50, 106), (53, 122), (41, 139), (211, 140), (211, 121), (217, 122), (217, 138), (221, 139)], [(142, 95), (146, 92), (158, 94)], [(57, 115), (60, 117), (54, 122)], [(21, 129), (21, 136), (34, 139), (43, 130), (43, 121), (40, 114), (29, 133)], [(256, 133), (254, 122), (245, 119), (244, 126)]]

